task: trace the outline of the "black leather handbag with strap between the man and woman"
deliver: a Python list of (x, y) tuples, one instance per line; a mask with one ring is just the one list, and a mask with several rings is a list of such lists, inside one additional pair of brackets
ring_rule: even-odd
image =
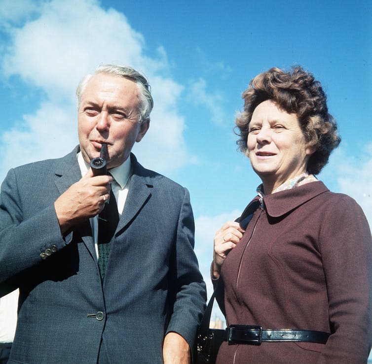
[(208, 302), (201, 323), (196, 331), (194, 364), (216, 363), (217, 354), (223, 342), (225, 331), (209, 328), (215, 292), (216, 290)]

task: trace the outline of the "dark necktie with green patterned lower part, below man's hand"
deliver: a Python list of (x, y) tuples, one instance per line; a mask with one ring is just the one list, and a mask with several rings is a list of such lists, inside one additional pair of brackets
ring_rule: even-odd
[(115, 196), (111, 191), (109, 202), (106, 203), (106, 206), (98, 215), (98, 267), (102, 281), (105, 277), (111, 242), (118, 222), (119, 213), (117, 212)]

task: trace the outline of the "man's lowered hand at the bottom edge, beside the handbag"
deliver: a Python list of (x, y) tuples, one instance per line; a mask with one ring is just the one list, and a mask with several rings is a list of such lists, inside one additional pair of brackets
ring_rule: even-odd
[(163, 344), (164, 364), (189, 364), (191, 351), (187, 341), (177, 332), (168, 332)]

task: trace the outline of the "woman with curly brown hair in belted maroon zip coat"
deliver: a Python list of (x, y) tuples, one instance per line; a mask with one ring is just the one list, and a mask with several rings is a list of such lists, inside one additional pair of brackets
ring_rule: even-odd
[(366, 363), (371, 232), (353, 199), (314, 176), (340, 142), (325, 93), (301, 67), (271, 68), (243, 98), (238, 144), (262, 184), (215, 236), (212, 280), (228, 326), (217, 362)]

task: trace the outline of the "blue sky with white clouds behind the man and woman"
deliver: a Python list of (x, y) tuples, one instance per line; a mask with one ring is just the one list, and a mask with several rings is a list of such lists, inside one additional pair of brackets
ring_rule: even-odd
[(77, 144), (85, 73), (134, 66), (155, 102), (134, 152), (189, 189), (209, 282), (215, 231), (260, 182), (235, 144), (241, 94), (258, 73), (300, 64), (322, 82), (342, 137), (319, 178), (372, 225), (371, 1), (0, 0), (0, 14), (0, 180)]

